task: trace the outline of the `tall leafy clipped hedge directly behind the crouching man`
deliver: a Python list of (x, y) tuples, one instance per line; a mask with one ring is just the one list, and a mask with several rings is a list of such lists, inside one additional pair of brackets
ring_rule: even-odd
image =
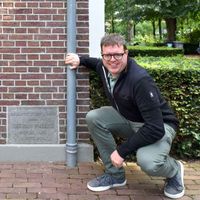
[[(172, 154), (200, 158), (200, 60), (182, 56), (136, 57), (135, 60), (154, 78), (180, 121)], [(90, 82), (91, 109), (108, 105), (96, 73), (91, 72)]]

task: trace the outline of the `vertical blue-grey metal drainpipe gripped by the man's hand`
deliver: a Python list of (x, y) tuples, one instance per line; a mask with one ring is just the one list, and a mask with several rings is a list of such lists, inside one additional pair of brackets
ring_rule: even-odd
[[(67, 0), (67, 52), (76, 52), (76, 0)], [(76, 71), (67, 66), (67, 142), (66, 165), (77, 165)]]

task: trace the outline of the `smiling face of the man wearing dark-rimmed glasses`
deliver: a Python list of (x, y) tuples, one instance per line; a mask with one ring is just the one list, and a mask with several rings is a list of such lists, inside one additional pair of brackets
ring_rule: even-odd
[(127, 65), (128, 51), (123, 45), (103, 46), (103, 64), (113, 76), (118, 76)]

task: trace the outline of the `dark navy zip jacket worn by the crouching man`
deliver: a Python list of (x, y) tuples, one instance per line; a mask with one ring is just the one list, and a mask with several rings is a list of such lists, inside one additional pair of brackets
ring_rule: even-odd
[(101, 59), (80, 57), (80, 65), (93, 69), (100, 75), (111, 105), (121, 115), (127, 120), (144, 123), (132, 137), (117, 147), (122, 158), (135, 153), (140, 147), (161, 139), (165, 133), (164, 123), (177, 129), (178, 120), (160, 94), (155, 82), (133, 59), (128, 58), (127, 67), (120, 74), (113, 94), (107, 86), (108, 71)]

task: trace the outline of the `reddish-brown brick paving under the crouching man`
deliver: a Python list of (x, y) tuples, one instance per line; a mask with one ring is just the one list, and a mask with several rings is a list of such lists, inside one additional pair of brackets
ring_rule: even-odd
[[(200, 161), (184, 162), (186, 195), (200, 200)], [(0, 199), (42, 200), (167, 200), (162, 178), (149, 177), (135, 163), (127, 163), (127, 185), (91, 192), (86, 183), (103, 171), (99, 163), (0, 163)]]

